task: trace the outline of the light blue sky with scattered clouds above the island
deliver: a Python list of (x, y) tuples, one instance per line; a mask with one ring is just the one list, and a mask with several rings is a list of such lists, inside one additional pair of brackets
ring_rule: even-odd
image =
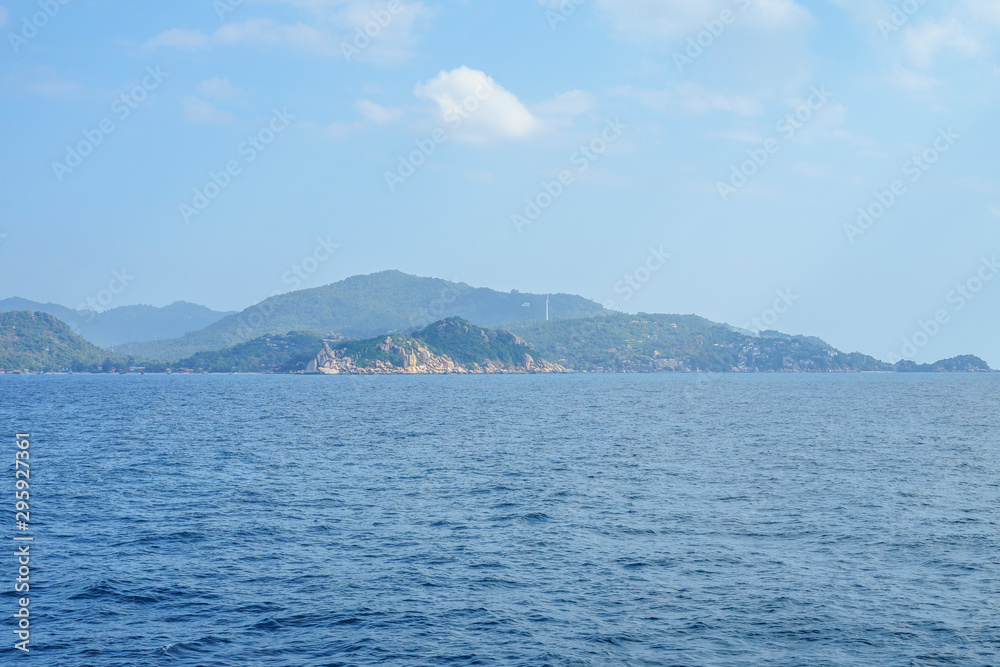
[(6, 0), (0, 33), (0, 298), (398, 269), (1000, 367), (996, 0)]

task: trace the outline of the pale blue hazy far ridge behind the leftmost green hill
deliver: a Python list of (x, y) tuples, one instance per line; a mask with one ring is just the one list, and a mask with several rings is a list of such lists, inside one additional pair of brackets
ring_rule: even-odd
[(230, 313), (178, 301), (163, 308), (121, 306), (102, 313), (72, 310), (54, 303), (14, 297), (0, 301), (0, 313), (28, 310), (48, 313), (68, 324), (84, 339), (100, 347), (133, 341), (169, 339), (203, 329)]

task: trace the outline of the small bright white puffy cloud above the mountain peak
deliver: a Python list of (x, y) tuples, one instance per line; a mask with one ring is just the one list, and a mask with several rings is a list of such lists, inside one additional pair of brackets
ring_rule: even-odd
[(437, 104), (441, 120), (460, 141), (523, 139), (542, 125), (516, 95), (485, 72), (464, 66), (417, 84), (413, 94)]

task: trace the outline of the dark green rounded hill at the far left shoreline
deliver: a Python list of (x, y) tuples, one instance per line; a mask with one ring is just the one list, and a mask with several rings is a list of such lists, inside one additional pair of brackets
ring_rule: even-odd
[(0, 313), (0, 369), (96, 370), (108, 357), (48, 313)]

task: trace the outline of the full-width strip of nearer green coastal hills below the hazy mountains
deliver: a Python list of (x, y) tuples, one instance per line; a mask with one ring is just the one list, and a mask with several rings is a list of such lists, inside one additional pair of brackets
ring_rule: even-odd
[[(47, 313), (0, 314), (0, 372), (498, 373), (985, 372), (962, 356), (935, 364), (887, 364), (844, 354), (819, 339), (753, 337), (694, 316), (612, 316), (525, 326), (525, 334), (447, 318), (409, 334), (344, 340), (308, 332), (268, 334), (176, 362), (116, 355)], [(534, 338), (530, 334), (535, 334)], [(535, 342), (531, 342), (534, 340)]]

